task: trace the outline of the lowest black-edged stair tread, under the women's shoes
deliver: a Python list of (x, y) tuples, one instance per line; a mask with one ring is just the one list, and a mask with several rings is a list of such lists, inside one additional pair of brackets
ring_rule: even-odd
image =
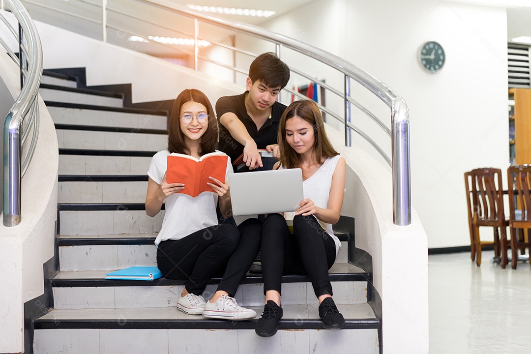
[[(337, 305), (345, 317), (346, 329), (377, 328), (379, 322), (369, 303)], [(52, 309), (35, 321), (35, 329), (45, 328), (149, 328), (149, 329), (253, 329), (263, 310), (249, 306), (256, 312), (250, 321), (211, 320), (202, 316), (186, 315), (176, 307), (108, 308), (108, 309)], [(279, 329), (322, 329), (317, 300), (315, 304), (284, 305), (284, 316)]]

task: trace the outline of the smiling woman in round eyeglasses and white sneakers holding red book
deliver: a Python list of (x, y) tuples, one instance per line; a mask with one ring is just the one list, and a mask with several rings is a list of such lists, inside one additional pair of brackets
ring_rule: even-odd
[[(216, 205), (226, 218), (232, 212), (227, 177), (233, 172), (227, 159), (225, 183), (210, 177), (211, 192), (196, 197), (176, 193), (186, 186), (167, 183), (167, 156), (187, 154), (199, 159), (215, 152), (217, 119), (207, 96), (184, 90), (174, 102), (168, 129), (168, 149), (153, 156), (148, 170), (145, 211), (155, 217), (165, 205), (161, 230), (155, 240), (157, 266), (165, 278), (185, 280), (177, 308), (186, 314), (227, 320), (248, 320), (256, 313), (238, 306), (233, 298), (239, 283), (260, 249), (261, 221), (248, 219), (238, 227), (218, 224)], [(222, 273), (225, 269), (225, 272)], [(209, 301), (201, 296), (207, 282), (222, 274)]]

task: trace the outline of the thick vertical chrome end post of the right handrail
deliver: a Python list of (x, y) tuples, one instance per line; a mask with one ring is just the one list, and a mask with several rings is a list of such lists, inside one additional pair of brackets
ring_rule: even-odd
[(409, 115), (406, 101), (395, 98), (391, 103), (393, 222), (411, 223), (411, 191), (409, 160)]

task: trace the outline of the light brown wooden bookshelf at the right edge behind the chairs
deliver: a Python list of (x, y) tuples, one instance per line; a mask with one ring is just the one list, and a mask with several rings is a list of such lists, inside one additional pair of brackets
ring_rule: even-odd
[(509, 161), (531, 164), (530, 89), (509, 89)]

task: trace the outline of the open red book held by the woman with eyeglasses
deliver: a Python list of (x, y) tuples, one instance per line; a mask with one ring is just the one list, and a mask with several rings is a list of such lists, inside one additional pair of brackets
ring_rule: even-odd
[(207, 185), (213, 183), (209, 177), (219, 179), (225, 183), (227, 159), (221, 152), (211, 152), (201, 156), (198, 160), (190, 155), (172, 153), (168, 155), (166, 182), (184, 183), (184, 189), (177, 193), (196, 197), (203, 192), (214, 192)]

